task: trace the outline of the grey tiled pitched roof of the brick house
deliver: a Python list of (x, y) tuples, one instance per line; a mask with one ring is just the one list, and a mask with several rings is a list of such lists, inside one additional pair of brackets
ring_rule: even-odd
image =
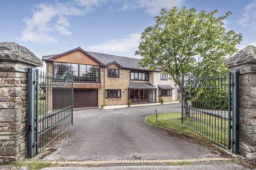
[(109, 63), (118, 63), (119, 66), (125, 68), (125, 69), (135, 69), (135, 70), (147, 70), (149, 71), (149, 67), (139, 67), (138, 62), (140, 61), (137, 58), (131, 58), (131, 57), (122, 57), (117, 55), (110, 55), (110, 54), (102, 54), (102, 53), (95, 53), (95, 52), (87, 52), (84, 51), (82, 48), (78, 47), (72, 50), (69, 50), (68, 52), (62, 53), (62, 54), (56, 54), (56, 55), (47, 55), (43, 56), (43, 61), (53, 61), (55, 58), (58, 58), (60, 56), (66, 55), (68, 53), (74, 52), (75, 50), (81, 50), (81, 52), (89, 55), (90, 57), (94, 58), (94, 60), (101, 63), (101, 65), (108, 65)]

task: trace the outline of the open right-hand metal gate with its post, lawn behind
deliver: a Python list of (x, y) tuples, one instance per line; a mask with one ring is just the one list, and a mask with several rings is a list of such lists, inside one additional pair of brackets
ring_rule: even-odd
[(182, 124), (238, 154), (239, 71), (182, 77)]

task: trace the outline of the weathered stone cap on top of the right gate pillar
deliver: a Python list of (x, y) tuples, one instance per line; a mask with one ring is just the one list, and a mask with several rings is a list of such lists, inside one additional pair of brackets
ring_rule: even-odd
[(234, 67), (245, 64), (255, 64), (256, 63), (256, 47), (247, 46), (242, 50), (239, 50), (233, 57), (230, 57), (226, 62), (226, 66)]

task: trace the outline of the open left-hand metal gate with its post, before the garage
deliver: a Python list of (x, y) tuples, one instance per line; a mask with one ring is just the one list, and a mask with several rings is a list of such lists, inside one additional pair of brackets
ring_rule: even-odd
[(63, 77), (28, 69), (28, 157), (73, 124), (73, 74)]

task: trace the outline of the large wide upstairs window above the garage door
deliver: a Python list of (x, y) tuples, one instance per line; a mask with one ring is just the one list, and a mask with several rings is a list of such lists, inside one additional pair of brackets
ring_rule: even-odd
[(54, 62), (53, 68), (56, 77), (63, 77), (65, 72), (73, 71), (74, 81), (100, 82), (100, 66)]

